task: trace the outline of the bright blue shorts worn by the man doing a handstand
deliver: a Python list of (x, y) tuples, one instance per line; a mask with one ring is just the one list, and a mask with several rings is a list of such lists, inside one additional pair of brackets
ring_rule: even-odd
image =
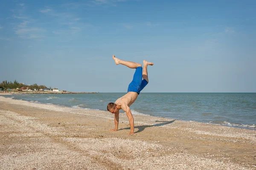
[(142, 79), (142, 67), (137, 67), (134, 73), (134, 77), (128, 86), (128, 91), (137, 92), (140, 94), (143, 88), (148, 84), (147, 80)]

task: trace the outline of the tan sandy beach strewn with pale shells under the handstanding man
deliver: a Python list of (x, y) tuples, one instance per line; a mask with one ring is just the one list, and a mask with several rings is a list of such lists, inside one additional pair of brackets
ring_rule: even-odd
[(1, 170), (255, 170), (256, 131), (0, 96)]

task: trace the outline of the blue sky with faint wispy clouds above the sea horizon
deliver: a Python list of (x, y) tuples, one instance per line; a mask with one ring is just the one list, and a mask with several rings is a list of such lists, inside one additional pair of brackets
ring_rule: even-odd
[(0, 81), (67, 91), (256, 92), (254, 0), (3, 0)]

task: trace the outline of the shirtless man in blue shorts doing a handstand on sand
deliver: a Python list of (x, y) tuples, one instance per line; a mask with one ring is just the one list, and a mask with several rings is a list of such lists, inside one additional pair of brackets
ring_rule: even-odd
[[(118, 123), (119, 123), (119, 110), (122, 109), (125, 111), (126, 116), (129, 119), (131, 132), (128, 134), (134, 134), (134, 119), (131, 114), (130, 106), (135, 102), (138, 95), (140, 94), (140, 91), (142, 91), (143, 88), (148, 84), (148, 71), (147, 67), (148, 65), (154, 65), (152, 62), (147, 62), (146, 60), (143, 61), (143, 70), (140, 63), (137, 62), (131, 62), (131, 61), (124, 61), (121, 59), (116, 58), (113, 55), (113, 59), (116, 62), (116, 65), (122, 64), (129, 68), (136, 68), (136, 71), (134, 73), (133, 80), (128, 86), (128, 92), (124, 96), (120, 97), (116, 100), (114, 103), (108, 103), (107, 109), (112, 114), (115, 114), (115, 127), (111, 131), (116, 131), (118, 129)], [(143, 78), (143, 79), (142, 79)]]

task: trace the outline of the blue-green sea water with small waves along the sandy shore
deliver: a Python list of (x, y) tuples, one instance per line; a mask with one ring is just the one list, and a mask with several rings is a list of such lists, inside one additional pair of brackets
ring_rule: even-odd
[[(115, 102), (124, 94), (17, 94), (6, 97), (106, 111), (109, 102)], [(141, 93), (130, 108), (133, 114), (256, 130), (256, 93)]]

